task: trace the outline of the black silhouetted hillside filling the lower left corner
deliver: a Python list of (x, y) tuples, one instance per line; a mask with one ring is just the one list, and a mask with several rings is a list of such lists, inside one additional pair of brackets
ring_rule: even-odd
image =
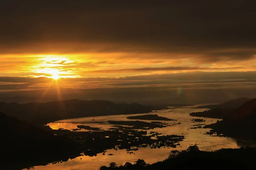
[(0, 112), (3, 170), (20, 170), (32, 165), (47, 164), (78, 156), (78, 144), (68, 138), (55, 136), (25, 121)]

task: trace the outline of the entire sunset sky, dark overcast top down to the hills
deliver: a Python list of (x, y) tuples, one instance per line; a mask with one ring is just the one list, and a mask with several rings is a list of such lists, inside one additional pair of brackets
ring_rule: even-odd
[(255, 5), (3, 1), (0, 100), (198, 104), (253, 98)]

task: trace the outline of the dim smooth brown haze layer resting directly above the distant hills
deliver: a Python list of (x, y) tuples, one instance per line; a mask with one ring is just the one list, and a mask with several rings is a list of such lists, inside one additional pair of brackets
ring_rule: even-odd
[[(219, 103), (237, 97), (256, 95), (256, 89), (250, 85), (237, 85), (224, 88), (168, 88), (168, 85), (150, 87), (120, 87), (120, 88), (90, 88), (90, 89), (61, 89), (61, 96), (52, 88), (48, 91), (37, 89), (32, 91), (0, 91), (0, 101), (9, 102), (47, 102), (56, 99), (106, 99), (113, 102), (140, 102), (140, 103), (171, 103), (171, 104), (202, 104)], [(129, 91), (129, 92), (128, 92)], [(181, 93), (178, 93), (181, 91)], [(43, 95), (44, 94), (44, 95)], [(210, 97), (209, 97), (210, 96)]]

